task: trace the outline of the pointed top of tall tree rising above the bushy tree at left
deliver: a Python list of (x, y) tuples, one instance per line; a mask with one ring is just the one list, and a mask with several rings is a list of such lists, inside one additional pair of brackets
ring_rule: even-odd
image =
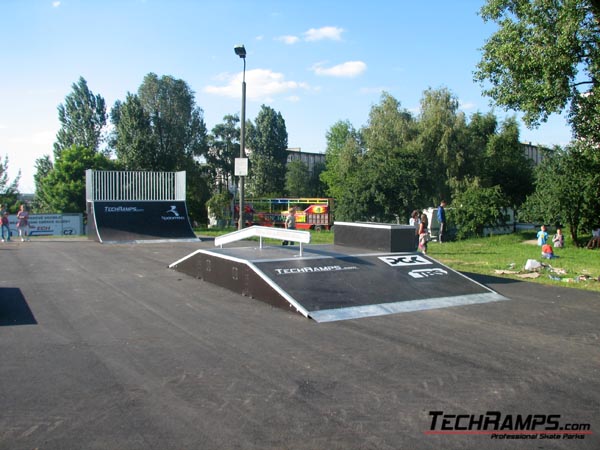
[(102, 132), (106, 125), (104, 98), (94, 95), (83, 77), (72, 85), (73, 92), (58, 105), (58, 120), (61, 127), (56, 134), (54, 155), (58, 156), (72, 145), (98, 151), (102, 143)]

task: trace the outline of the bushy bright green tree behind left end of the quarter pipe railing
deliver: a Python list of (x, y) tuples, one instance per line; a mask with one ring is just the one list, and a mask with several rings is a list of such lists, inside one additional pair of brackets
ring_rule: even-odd
[[(38, 160), (38, 167), (45, 162)], [(87, 147), (73, 145), (56, 157), (54, 167), (39, 178), (36, 201), (41, 212), (85, 212), (85, 171), (114, 170), (115, 163)], [(38, 175), (40, 174), (38, 170)]]

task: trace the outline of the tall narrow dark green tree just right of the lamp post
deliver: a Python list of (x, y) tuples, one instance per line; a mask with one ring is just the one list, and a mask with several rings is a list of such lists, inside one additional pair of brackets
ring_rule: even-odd
[(248, 128), (249, 191), (254, 196), (281, 195), (285, 189), (288, 134), (281, 113), (262, 105)]

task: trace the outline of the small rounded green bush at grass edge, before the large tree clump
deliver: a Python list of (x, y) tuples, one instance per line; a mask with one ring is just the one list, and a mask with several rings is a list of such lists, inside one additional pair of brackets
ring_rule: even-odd
[(448, 221), (457, 227), (457, 238), (483, 236), (486, 226), (504, 224), (503, 213), (508, 206), (506, 196), (499, 186), (481, 187), (479, 180), (465, 181), (452, 199)]

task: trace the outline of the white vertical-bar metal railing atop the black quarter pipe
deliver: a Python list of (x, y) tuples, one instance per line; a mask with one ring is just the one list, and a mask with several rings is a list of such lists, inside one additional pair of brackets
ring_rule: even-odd
[(185, 201), (185, 171), (85, 172), (86, 201)]

